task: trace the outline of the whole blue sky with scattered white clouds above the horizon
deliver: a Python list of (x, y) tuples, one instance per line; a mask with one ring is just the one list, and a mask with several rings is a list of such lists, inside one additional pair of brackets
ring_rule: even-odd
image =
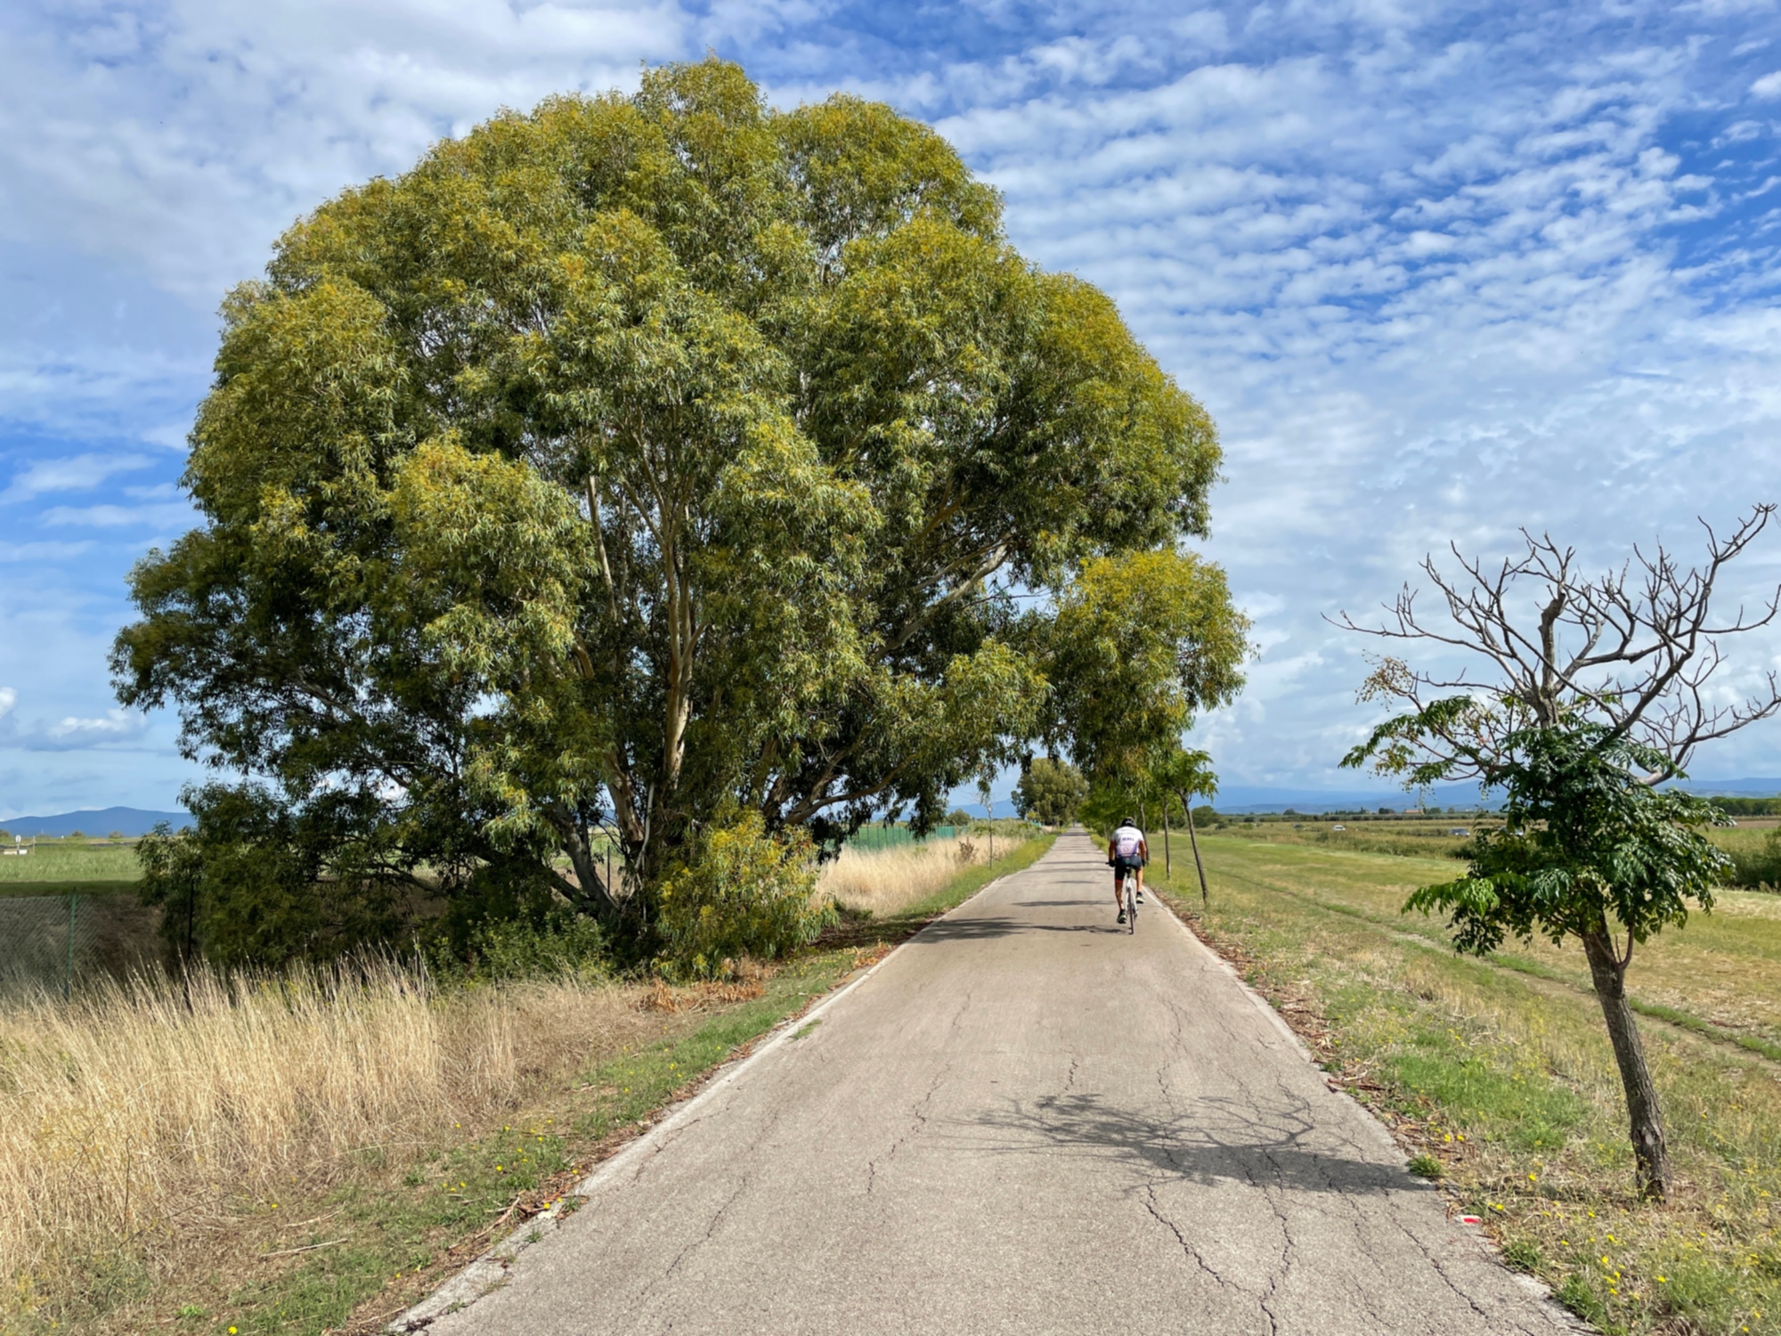
[[(780, 103), (930, 119), (1013, 240), (1111, 292), (1220, 422), (1211, 554), (1256, 616), (1227, 784), (1366, 784), (1364, 613), (1450, 540), (1590, 561), (1781, 499), (1772, 4), (604, 7), (14, 0), (0, 11), (0, 818), (167, 807), (116, 709), (123, 577), (176, 488), (219, 299), (331, 192), (497, 107), (705, 50)], [(1781, 533), (1733, 595), (1781, 579)], [(1736, 647), (1738, 679), (1781, 634)], [(1781, 775), (1781, 725), (1697, 775)], [(1370, 786), (1368, 787), (1377, 787)]]

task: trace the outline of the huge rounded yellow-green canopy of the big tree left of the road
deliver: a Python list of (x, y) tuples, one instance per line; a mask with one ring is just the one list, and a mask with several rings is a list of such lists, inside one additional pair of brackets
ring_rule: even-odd
[(1209, 417), (878, 103), (709, 59), (502, 114), (287, 232), (216, 372), (118, 691), (249, 777), (199, 827), (376, 903), (622, 916), (712, 825), (931, 823), (1026, 737), (1118, 745), (1097, 682), (1240, 680)]

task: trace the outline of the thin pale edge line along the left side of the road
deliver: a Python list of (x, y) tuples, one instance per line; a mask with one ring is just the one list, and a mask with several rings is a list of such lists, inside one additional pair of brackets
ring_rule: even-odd
[[(1053, 841), (1051, 848), (1056, 846), (1058, 846), (1056, 841)], [(1051, 850), (1045, 850), (1045, 853), (1051, 853)], [(629, 1165), (632, 1160), (638, 1160), (639, 1156), (643, 1156), (645, 1151), (652, 1147), (659, 1149), (659, 1142), (668, 1133), (675, 1131), (680, 1124), (691, 1119), (693, 1113), (696, 1113), (705, 1104), (707, 1099), (712, 1099), (720, 1092), (728, 1090), (732, 1085), (736, 1085), (757, 1060), (764, 1058), (780, 1046), (787, 1044), (794, 1030), (801, 1030), (803, 1026), (814, 1024), (817, 1019), (821, 1019), (823, 1012), (826, 1012), (830, 1006), (839, 1003), (842, 998), (846, 998), (850, 992), (860, 987), (866, 980), (869, 980), (873, 974), (883, 969), (883, 965), (889, 964), (898, 955), (898, 951), (914, 942), (917, 937), (921, 937), (921, 933), (928, 932), (928, 928), (931, 928), (935, 923), (946, 923), (949, 917), (958, 914), (962, 908), (971, 905), (980, 896), (988, 894), (1003, 882), (1013, 876), (1021, 876), (1026, 871), (1031, 871), (1040, 862), (1044, 862), (1045, 853), (1029, 862), (1026, 868), (1021, 868), (1012, 873), (1003, 873), (996, 880), (985, 882), (976, 891), (972, 891), (965, 900), (960, 900), (956, 905), (946, 910), (946, 914), (940, 914), (937, 919), (930, 919), (928, 923), (924, 923), (921, 926), (921, 932), (910, 933), (907, 939), (903, 939), (894, 948), (885, 951), (883, 958), (874, 962), (864, 974), (841, 985), (810, 1010), (800, 1012), (798, 1015), (791, 1015), (780, 1021), (777, 1026), (773, 1026), (773, 1030), (766, 1033), (764, 1039), (755, 1040), (755, 1046), (748, 1053), (744, 1053), (741, 1058), (730, 1058), (721, 1067), (718, 1067), (718, 1071), (714, 1071), (709, 1078), (705, 1078), (705, 1083), (698, 1088), (698, 1094), (680, 1101), (679, 1104), (671, 1104), (668, 1115), (661, 1122), (652, 1124), (639, 1136), (632, 1138), (616, 1153), (613, 1153), (609, 1158), (602, 1160), (595, 1167), (595, 1170), (588, 1174), (588, 1177), (577, 1183), (572, 1192), (565, 1193), (565, 1199), (582, 1197), (584, 1201), (581, 1202), (581, 1206), (577, 1206), (577, 1210), (584, 1210), (588, 1206), (586, 1199), (591, 1199), (593, 1193), (598, 1192), (609, 1179), (613, 1179), (625, 1165)], [(1193, 933), (1188, 935), (1191, 937)], [(533, 1243), (541, 1242), (545, 1234), (556, 1233), (563, 1226), (565, 1218), (566, 1217), (563, 1215), (563, 1199), (559, 1199), (557, 1202), (554, 1202), (552, 1206), (545, 1208), (531, 1220), (522, 1224), (518, 1229), (506, 1234), (500, 1242), (492, 1243), (488, 1252), (476, 1258), (476, 1261), (465, 1265), (461, 1272), (458, 1272), (449, 1281), (440, 1284), (438, 1290), (429, 1293), (419, 1304), (394, 1316), (388, 1322), (388, 1325), (385, 1325), (385, 1331), (386, 1332), (424, 1331), (447, 1313), (458, 1313), (465, 1307), (470, 1307), (470, 1304), (474, 1304), (477, 1299), (481, 1299), (490, 1290), (502, 1284), (508, 1279), (508, 1268), (513, 1265), (513, 1261)]]

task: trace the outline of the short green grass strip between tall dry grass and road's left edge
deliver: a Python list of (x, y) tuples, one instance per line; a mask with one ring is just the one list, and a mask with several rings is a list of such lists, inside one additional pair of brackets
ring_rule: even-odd
[[(969, 868), (896, 917), (842, 925), (766, 980), (760, 998), (727, 1005), (680, 1035), (575, 1072), (540, 1097), (531, 1117), (500, 1133), (435, 1147), (397, 1167), (381, 1153), (367, 1153), (365, 1179), (303, 1202), (303, 1215), (321, 1218), (280, 1243), (313, 1250), (276, 1259), (280, 1265), (264, 1279), (194, 1277), (187, 1291), (159, 1295), (153, 1306), (173, 1318), (171, 1331), (182, 1332), (310, 1336), (379, 1329), (515, 1227), (492, 1222), (516, 1204), (563, 1192), (716, 1067), (935, 916), (994, 878), (1029, 868), (1053, 841), (1031, 839), (992, 864)], [(290, 1215), (294, 1208), (262, 1202), (253, 1211), (264, 1224), (267, 1215)]]

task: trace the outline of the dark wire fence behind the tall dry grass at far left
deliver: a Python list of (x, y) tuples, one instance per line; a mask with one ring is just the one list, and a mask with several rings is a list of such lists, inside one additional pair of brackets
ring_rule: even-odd
[(71, 998), (160, 960), (134, 894), (0, 896), (0, 994)]

